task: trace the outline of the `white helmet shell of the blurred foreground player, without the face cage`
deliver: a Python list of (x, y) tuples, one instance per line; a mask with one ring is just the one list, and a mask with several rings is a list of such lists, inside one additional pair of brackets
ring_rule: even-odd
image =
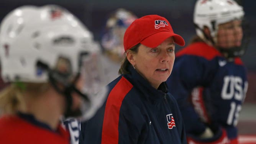
[[(77, 57), (91, 44), (92, 34), (67, 10), (54, 5), (23, 6), (11, 11), (0, 28), (0, 57), (5, 81), (47, 82), (47, 73), (38, 72), (38, 61), (56, 66), (67, 57), (74, 73)], [(90, 48), (91, 49), (91, 48)]]

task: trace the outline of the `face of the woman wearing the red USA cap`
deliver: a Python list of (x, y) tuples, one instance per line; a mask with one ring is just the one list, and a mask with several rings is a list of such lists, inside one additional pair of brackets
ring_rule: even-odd
[(171, 75), (174, 64), (174, 39), (167, 38), (159, 46), (151, 48), (141, 44), (133, 56), (133, 65), (149, 83), (158, 88)]

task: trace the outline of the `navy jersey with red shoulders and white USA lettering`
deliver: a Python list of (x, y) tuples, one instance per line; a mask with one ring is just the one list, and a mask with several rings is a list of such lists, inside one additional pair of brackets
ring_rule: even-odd
[(238, 115), (248, 88), (240, 58), (228, 61), (214, 47), (190, 44), (177, 52), (167, 85), (187, 133), (202, 133), (207, 123), (225, 128), (229, 139), (237, 137)]

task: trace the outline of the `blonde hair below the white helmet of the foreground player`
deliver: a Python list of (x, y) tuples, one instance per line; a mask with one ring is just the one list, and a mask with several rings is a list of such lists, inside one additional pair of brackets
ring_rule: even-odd
[(2, 114), (15, 114), (26, 111), (25, 93), (33, 96), (43, 93), (49, 88), (49, 83), (11, 83), (0, 91), (0, 110)]

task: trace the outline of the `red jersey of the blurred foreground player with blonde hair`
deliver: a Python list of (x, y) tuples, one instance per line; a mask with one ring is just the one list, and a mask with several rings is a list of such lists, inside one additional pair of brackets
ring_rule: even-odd
[(69, 134), (61, 125), (53, 131), (33, 116), (20, 113), (0, 118), (0, 144), (69, 144)]

